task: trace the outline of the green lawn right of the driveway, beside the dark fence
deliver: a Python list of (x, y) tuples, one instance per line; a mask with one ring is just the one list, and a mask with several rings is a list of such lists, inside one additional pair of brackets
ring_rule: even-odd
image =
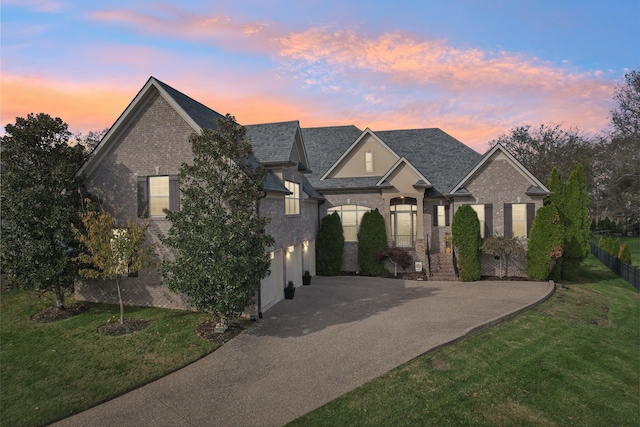
[(639, 425), (640, 295), (593, 257), (581, 273), (534, 309), (290, 425)]

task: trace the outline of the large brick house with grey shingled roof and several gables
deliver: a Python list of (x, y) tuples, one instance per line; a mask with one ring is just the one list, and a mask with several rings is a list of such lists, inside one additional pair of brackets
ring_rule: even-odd
[[(217, 117), (151, 77), (79, 171), (87, 177), (87, 189), (109, 208), (119, 208), (121, 218), (148, 213), (149, 239), (161, 259), (170, 256), (159, 238), (171, 226), (163, 209), (180, 208), (177, 175), (192, 161), (189, 135), (215, 128)], [(390, 245), (429, 263), (446, 252), (459, 206), (473, 206), (484, 235), (526, 238), (535, 210), (549, 194), (502, 146), (481, 156), (440, 129), (301, 128), (297, 121), (245, 127), (254, 160), (268, 171), (259, 209), (271, 218), (267, 232), (275, 239), (267, 248), (271, 273), (260, 285), (259, 311), (283, 298), (289, 280), (299, 286), (305, 270), (315, 274), (315, 240), (329, 213), (338, 212), (343, 223), (343, 270), (357, 271), (357, 229), (368, 210), (377, 208), (384, 216)], [(444, 255), (445, 262), (452, 263), (450, 257)], [(485, 263), (488, 270), (491, 261)], [(188, 307), (153, 268), (128, 280), (127, 304)], [(115, 287), (92, 281), (79, 283), (76, 297), (117, 301)]]

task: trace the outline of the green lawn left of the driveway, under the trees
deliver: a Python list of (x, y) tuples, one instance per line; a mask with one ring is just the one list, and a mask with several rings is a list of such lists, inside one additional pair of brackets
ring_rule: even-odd
[(0, 296), (0, 423), (44, 425), (160, 378), (210, 353), (194, 328), (201, 313), (127, 307), (126, 318), (150, 320), (140, 332), (109, 337), (98, 327), (117, 321), (114, 305), (88, 304), (53, 323), (30, 317), (51, 301), (26, 292)]

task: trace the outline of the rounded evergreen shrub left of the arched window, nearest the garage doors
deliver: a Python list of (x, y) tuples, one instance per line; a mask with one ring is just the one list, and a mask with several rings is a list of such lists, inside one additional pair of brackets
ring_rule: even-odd
[(337, 276), (342, 270), (344, 233), (337, 212), (322, 218), (316, 242), (316, 269), (320, 276)]

